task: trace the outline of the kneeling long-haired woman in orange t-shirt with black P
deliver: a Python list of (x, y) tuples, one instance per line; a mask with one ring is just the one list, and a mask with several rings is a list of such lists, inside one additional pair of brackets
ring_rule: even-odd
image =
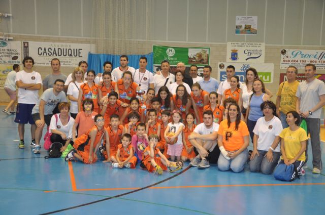
[(218, 146), (222, 155), (218, 158), (218, 168), (221, 171), (232, 169), (239, 173), (248, 159), (249, 132), (240, 117), (239, 105), (233, 103), (229, 106), (227, 119), (220, 123)]

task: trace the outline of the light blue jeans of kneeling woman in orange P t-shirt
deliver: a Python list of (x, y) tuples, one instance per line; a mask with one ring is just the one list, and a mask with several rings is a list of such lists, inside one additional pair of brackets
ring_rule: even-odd
[(245, 166), (245, 163), (248, 158), (248, 150), (245, 149), (239, 155), (237, 155), (234, 159), (227, 160), (220, 154), (218, 158), (218, 168), (221, 171), (233, 170), (235, 173), (240, 173)]

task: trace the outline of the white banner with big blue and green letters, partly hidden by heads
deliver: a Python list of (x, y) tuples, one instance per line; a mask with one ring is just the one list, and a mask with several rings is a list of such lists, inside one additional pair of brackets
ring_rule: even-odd
[(250, 67), (253, 67), (257, 70), (259, 78), (263, 80), (264, 83), (273, 82), (273, 63), (227, 63), (219, 62), (218, 63), (218, 79), (223, 81), (227, 78), (226, 68), (229, 65), (233, 65), (235, 70), (235, 75), (239, 76), (241, 82), (245, 81), (246, 70)]

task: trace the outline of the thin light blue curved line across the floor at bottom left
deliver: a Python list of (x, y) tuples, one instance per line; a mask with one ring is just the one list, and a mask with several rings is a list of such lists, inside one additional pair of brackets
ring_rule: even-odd
[[(78, 192), (69, 192), (69, 191), (60, 191), (60, 190), (40, 190), (40, 189), (30, 189), (30, 188), (4, 188), (0, 187), (2, 190), (27, 190), (27, 191), (41, 191), (45, 193), (52, 193), (52, 192), (57, 192), (57, 193), (68, 193), (68, 194), (76, 194), (76, 195), (87, 195), (87, 196), (99, 196), (99, 197), (110, 197), (107, 195), (99, 195), (99, 194), (90, 194), (90, 193), (78, 193)], [(130, 198), (116, 198), (119, 200), (125, 200), (125, 201), (134, 201), (134, 202), (141, 202), (141, 203), (147, 203), (147, 204), (153, 204), (153, 205), (159, 205), (159, 206), (164, 206), (164, 207), (171, 207), (171, 208), (176, 208), (176, 209), (182, 209), (182, 210), (187, 210), (191, 212), (198, 212), (202, 214), (209, 214), (213, 215), (213, 213), (208, 213), (200, 210), (194, 210), (194, 209), (189, 209), (186, 207), (180, 207), (180, 206), (174, 206), (174, 205), (169, 205), (169, 204), (162, 204), (162, 203), (157, 203), (157, 202), (150, 202), (150, 201), (143, 201), (143, 200), (138, 200), (138, 199), (130, 199)]]

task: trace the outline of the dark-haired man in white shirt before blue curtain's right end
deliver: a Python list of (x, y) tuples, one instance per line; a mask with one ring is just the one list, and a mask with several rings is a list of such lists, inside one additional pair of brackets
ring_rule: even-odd
[(133, 75), (133, 81), (136, 82), (141, 90), (148, 92), (149, 88), (154, 88), (153, 74), (146, 70), (147, 58), (145, 56), (140, 57), (139, 69), (136, 69)]

